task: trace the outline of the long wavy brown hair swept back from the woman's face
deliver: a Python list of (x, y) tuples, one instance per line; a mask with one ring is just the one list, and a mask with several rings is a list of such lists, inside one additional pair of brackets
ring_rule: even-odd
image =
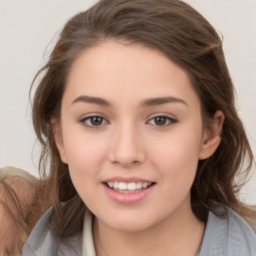
[[(210, 125), (217, 110), (224, 113), (219, 147), (198, 162), (191, 187), (192, 210), (205, 221), (209, 210), (217, 214), (215, 202), (219, 202), (252, 224), (255, 211), (240, 202), (237, 193), (253, 156), (235, 109), (234, 87), (215, 29), (180, 0), (100, 0), (66, 22), (32, 83), (37, 84), (32, 119), (42, 146), (36, 201), (53, 205), (52, 230), (56, 236), (62, 239), (79, 233), (86, 206), (75, 191), (67, 164), (60, 159), (52, 120), (60, 118), (61, 97), (74, 60), (86, 48), (108, 39), (157, 49), (184, 68), (200, 99), (204, 126)], [(247, 166), (243, 167), (244, 163)], [(45, 204), (49, 195), (50, 202)]]

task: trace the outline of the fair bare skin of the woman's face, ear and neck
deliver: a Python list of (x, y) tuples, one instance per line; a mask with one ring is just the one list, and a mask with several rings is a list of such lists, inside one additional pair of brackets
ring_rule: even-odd
[[(109, 105), (87, 102), (84, 95)], [(145, 104), (167, 96), (172, 102)], [(93, 126), (89, 116), (102, 117), (102, 123)], [(159, 125), (157, 116), (170, 120)], [(198, 159), (220, 142), (223, 118), (217, 111), (215, 126), (203, 129), (188, 75), (156, 50), (107, 41), (79, 56), (55, 141), (78, 194), (95, 214), (97, 255), (195, 255), (205, 224), (191, 210), (190, 187)], [(154, 185), (141, 200), (120, 203), (103, 183), (116, 176)]]

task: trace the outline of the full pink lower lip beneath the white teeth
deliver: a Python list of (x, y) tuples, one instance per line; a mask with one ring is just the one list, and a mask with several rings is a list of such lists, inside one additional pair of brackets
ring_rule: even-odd
[(102, 186), (106, 194), (115, 202), (122, 203), (122, 204), (131, 204), (131, 203), (139, 202), (143, 198), (145, 198), (153, 190), (155, 183), (148, 186), (145, 189), (142, 189), (140, 191), (133, 192), (133, 193), (122, 193), (122, 192), (114, 191), (113, 189), (109, 188), (105, 183), (102, 183)]

